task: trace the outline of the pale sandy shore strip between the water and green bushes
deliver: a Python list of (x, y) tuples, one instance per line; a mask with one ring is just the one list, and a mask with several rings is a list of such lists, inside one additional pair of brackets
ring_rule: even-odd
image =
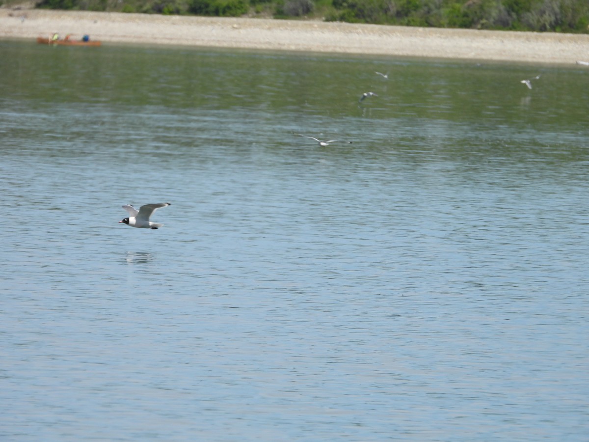
[(589, 35), (475, 31), (257, 18), (0, 9), (0, 38), (53, 32), (108, 42), (571, 64)]

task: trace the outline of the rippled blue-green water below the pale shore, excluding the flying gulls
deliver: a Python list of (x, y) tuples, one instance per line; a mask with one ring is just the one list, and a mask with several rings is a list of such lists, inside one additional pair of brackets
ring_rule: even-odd
[(587, 440), (588, 70), (4, 41), (0, 71), (2, 440)]

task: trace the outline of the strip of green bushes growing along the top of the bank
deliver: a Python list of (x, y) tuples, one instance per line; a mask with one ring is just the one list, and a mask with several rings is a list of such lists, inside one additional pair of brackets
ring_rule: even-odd
[(588, 0), (41, 0), (37, 6), (589, 34)]

